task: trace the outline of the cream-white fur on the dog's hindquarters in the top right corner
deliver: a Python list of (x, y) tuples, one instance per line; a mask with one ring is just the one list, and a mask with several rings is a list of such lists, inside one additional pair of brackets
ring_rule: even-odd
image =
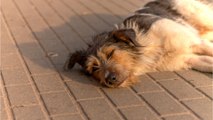
[(198, 0), (171, 0), (176, 9), (192, 25), (213, 30), (213, 8)]

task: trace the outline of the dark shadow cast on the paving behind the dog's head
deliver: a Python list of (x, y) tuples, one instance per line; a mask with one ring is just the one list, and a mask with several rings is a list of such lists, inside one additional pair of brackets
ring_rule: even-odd
[(100, 86), (97, 81), (85, 75), (79, 65), (70, 71), (64, 71), (63, 65), (69, 53), (87, 48), (94, 35), (114, 29), (114, 24), (121, 21), (118, 16), (108, 14), (72, 16), (62, 25), (50, 25), (42, 31), (33, 31), (37, 42), (22, 43), (19, 46), (32, 74), (60, 73), (64, 81)]

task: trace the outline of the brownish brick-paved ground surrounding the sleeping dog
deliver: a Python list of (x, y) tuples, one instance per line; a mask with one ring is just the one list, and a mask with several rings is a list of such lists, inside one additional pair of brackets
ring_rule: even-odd
[[(122, 4), (120, 4), (122, 3)], [(3, 0), (1, 120), (212, 120), (211, 75), (150, 73), (130, 88), (108, 89), (69, 52), (144, 4), (143, 0)]]

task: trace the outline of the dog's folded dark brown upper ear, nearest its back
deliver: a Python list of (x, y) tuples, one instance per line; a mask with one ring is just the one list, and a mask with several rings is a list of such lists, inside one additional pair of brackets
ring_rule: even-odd
[(136, 33), (133, 29), (122, 29), (112, 32), (112, 36), (119, 41), (139, 47), (140, 44), (136, 40)]

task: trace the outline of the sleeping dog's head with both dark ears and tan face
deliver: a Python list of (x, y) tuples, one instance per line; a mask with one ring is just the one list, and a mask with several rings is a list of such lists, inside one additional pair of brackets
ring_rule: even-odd
[(136, 82), (133, 74), (140, 47), (132, 29), (97, 35), (86, 51), (71, 54), (65, 67), (80, 64), (87, 73), (108, 87), (125, 87)]

